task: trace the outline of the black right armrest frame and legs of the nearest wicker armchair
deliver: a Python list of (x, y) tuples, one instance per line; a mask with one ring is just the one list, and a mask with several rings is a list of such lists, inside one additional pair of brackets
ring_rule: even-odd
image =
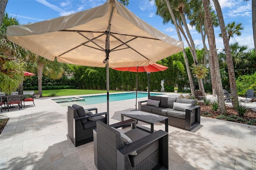
[(168, 169), (168, 132), (158, 130), (116, 150), (117, 169), (124, 170), (125, 157), (130, 153), (159, 140), (159, 164)]

